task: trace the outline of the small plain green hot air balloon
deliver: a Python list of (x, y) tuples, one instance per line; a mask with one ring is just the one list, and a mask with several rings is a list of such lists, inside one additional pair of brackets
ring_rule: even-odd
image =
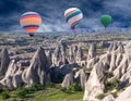
[(102, 15), (100, 22), (105, 26), (105, 28), (111, 23), (112, 18), (110, 15)]

